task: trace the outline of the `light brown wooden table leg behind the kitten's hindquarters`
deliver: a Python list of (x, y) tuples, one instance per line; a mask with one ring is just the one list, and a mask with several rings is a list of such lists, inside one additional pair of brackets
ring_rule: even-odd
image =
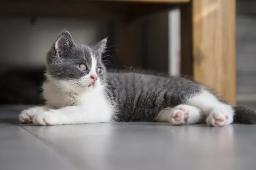
[(192, 0), (181, 6), (183, 74), (236, 105), (236, 0)]

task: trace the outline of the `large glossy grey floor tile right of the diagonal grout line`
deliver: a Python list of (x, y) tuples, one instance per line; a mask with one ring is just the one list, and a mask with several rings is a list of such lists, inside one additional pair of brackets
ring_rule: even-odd
[(114, 122), (23, 125), (86, 170), (225, 170), (256, 166), (256, 125)]

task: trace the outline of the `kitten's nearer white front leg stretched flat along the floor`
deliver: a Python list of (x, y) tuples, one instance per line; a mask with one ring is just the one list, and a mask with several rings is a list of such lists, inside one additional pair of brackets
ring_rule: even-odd
[(37, 114), (32, 122), (35, 125), (100, 123), (111, 121), (112, 116), (113, 111), (109, 106), (67, 106)]

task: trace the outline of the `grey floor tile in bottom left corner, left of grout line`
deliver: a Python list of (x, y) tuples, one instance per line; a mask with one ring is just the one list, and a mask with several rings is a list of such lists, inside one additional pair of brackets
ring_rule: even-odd
[(0, 124), (0, 170), (73, 170), (76, 167), (19, 125)]

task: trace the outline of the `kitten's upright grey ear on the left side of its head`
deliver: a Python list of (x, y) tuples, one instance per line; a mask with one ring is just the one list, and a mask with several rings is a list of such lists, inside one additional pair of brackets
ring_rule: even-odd
[(74, 47), (76, 47), (76, 44), (74, 43), (71, 34), (65, 30), (61, 32), (61, 34), (55, 40), (53, 45), (53, 53), (55, 56), (65, 57), (65, 55)]

